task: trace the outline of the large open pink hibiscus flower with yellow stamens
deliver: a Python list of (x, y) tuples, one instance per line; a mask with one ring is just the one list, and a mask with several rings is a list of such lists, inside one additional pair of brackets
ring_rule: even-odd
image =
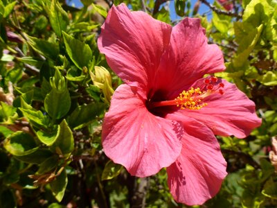
[(261, 121), (235, 85), (203, 78), (225, 67), (200, 20), (172, 28), (120, 4), (109, 10), (98, 47), (125, 82), (105, 114), (105, 154), (138, 177), (167, 167), (177, 202), (201, 205), (215, 196), (227, 173), (214, 134), (246, 137)]

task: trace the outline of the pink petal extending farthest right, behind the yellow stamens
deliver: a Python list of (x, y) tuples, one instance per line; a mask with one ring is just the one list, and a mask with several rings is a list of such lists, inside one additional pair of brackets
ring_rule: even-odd
[[(255, 103), (235, 85), (226, 80), (221, 81), (224, 83), (223, 95), (217, 92), (206, 97), (204, 103), (208, 105), (200, 110), (178, 110), (178, 113), (201, 121), (211, 128), (215, 135), (247, 137), (251, 130), (262, 122), (256, 115)], [(193, 87), (202, 89), (203, 85), (204, 79), (200, 79)]]

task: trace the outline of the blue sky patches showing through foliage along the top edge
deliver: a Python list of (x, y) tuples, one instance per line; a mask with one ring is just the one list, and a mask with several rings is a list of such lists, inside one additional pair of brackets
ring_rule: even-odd
[[(82, 7), (82, 3), (80, 0), (66, 0), (67, 2), (69, 2), (70, 5), (74, 5), (76, 8), (80, 8)], [(139, 1), (139, 0), (138, 0)], [(197, 0), (190, 0), (191, 2), (191, 8), (193, 8), (193, 6), (195, 5), (195, 2)], [(214, 0), (208, 0), (208, 2), (213, 3)], [(204, 3), (201, 4), (200, 8), (199, 8), (199, 14), (203, 14), (204, 12), (207, 12), (209, 10), (209, 8), (204, 5)], [(175, 12), (175, 4), (174, 1), (170, 1), (170, 16), (171, 19), (179, 19), (180, 17), (176, 14)], [(209, 19), (209, 18), (208, 18)]]

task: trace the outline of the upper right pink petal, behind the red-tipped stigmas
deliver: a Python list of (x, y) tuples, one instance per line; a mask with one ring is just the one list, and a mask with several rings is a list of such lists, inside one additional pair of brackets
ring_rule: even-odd
[(172, 29), (156, 82), (166, 92), (182, 92), (204, 74), (224, 69), (222, 51), (217, 45), (208, 44), (200, 19), (185, 18)]

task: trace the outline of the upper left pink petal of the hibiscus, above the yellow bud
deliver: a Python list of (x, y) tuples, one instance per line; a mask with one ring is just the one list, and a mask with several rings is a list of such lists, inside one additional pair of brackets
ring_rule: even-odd
[(172, 27), (120, 4), (112, 6), (101, 28), (98, 48), (109, 67), (127, 85), (147, 87), (170, 42)]

